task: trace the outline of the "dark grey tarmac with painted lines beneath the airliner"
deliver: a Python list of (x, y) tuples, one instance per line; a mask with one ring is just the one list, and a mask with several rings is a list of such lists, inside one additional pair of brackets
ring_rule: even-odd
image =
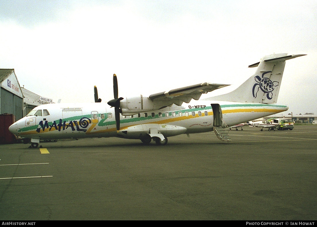
[(0, 219), (317, 219), (317, 125), (229, 135), (0, 145)]

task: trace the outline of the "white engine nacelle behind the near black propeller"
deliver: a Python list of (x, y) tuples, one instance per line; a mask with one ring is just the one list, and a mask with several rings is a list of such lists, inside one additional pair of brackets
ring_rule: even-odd
[(162, 109), (172, 104), (172, 102), (167, 103), (167, 101), (150, 100), (148, 97), (140, 95), (124, 98), (120, 101), (120, 108), (122, 109), (122, 115), (129, 116), (140, 112)]

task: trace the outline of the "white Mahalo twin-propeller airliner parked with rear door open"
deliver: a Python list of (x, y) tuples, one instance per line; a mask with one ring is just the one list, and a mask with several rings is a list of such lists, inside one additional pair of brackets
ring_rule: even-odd
[(229, 127), (288, 110), (277, 105), (286, 60), (303, 55), (273, 54), (250, 65), (256, 73), (236, 90), (199, 100), (202, 94), (228, 86), (201, 83), (151, 94), (148, 97), (119, 97), (113, 75), (114, 99), (101, 102), (94, 88), (95, 102), (52, 103), (35, 107), (9, 127), (11, 133), (40, 140), (65, 138), (120, 137), (166, 145), (167, 138), (180, 134), (214, 131), (230, 141)]

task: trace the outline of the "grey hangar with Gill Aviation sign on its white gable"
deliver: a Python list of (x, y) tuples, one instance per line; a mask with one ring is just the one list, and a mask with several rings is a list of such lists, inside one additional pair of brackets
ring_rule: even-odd
[(0, 69), (0, 114), (13, 114), (19, 120), (22, 108), (23, 92), (14, 69)]

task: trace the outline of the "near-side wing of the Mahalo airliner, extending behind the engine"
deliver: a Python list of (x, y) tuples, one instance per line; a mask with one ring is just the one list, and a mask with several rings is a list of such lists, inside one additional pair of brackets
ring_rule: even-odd
[(183, 102), (189, 103), (191, 99), (198, 100), (201, 94), (206, 94), (210, 91), (218, 88), (229, 86), (230, 84), (212, 84), (202, 83), (191, 85), (184, 88), (177, 88), (170, 91), (164, 91), (149, 96), (150, 100), (153, 101), (166, 101), (166, 103), (174, 103), (178, 106), (182, 105)]

